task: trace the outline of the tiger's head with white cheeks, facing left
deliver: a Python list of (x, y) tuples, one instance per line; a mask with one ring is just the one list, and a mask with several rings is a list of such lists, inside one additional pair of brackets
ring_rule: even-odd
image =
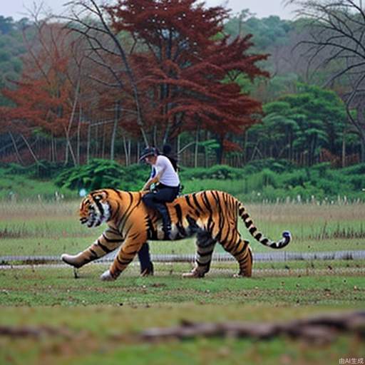
[(98, 227), (108, 222), (111, 215), (106, 190), (96, 190), (86, 195), (80, 205), (80, 222), (88, 227)]

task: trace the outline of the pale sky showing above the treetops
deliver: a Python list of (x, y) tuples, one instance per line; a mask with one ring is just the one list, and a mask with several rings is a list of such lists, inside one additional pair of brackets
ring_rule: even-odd
[[(15, 20), (21, 19), (24, 16), (29, 17), (29, 12), (26, 10), (33, 9), (34, 2), (36, 4), (43, 3), (44, 8), (51, 9), (53, 13), (59, 14), (65, 8), (66, 0), (0, 0), (0, 15), (12, 16)], [(278, 15), (283, 19), (293, 19), (293, 8), (285, 7), (282, 0), (205, 0), (208, 6), (226, 5), (232, 9), (232, 13), (240, 12), (242, 9), (250, 9), (259, 18), (264, 18), (269, 15)]]

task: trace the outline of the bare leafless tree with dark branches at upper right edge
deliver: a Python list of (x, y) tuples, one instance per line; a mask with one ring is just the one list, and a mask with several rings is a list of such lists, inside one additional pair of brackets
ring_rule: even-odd
[[(361, 161), (365, 161), (365, 11), (359, 0), (289, 0), (299, 6), (298, 14), (312, 19), (309, 60), (322, 56), (322, 66), (334, 63), (327, 85), (346, 78), (346, 112), (361, 139)], [(324, 57), (323, 57), (324, 55)], [(356, 110), (352, 113), (351, 110)]]

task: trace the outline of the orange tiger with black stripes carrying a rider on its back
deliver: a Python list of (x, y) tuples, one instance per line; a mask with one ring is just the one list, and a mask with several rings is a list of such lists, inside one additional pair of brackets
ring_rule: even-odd
[[(111, 281), (128, 267), (148, 240), (165, 240), (162, 219), (158, 212), (144, 205), (144, 194), (102, 189), (86, 195), (80, 205), (81, 224), (98, 227), (106, 222), (108, 227), (83, 252), (61, 255), (63, 262), (82, 267), (119, 247), (113, 263), (101, 274), (102, 280)], [(183, 277), (204, 277), (209, 272), (217, 242), (237, 260), (239, 272), (236, 276), (252, 276), (252, 250), (249, 241), (242, 240), (237, 229), (238, 216), (245, 222), (252, 237), (264, 246), (279, 249), (287, 246), (292, 239), (288, 231), (284, 231), (282, 239), (277, 242), (264, 237), (242, 202), (227, 192), (205, 190), (180, 195), (166, 206), (172, 223), (168, 239), (196, 237), (195, 265)]]

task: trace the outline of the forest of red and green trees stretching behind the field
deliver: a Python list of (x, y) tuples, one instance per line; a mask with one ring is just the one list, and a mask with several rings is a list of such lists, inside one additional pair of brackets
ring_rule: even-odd
[(354, 1), (301, 1), (294, 21), (190, 0), (72, 3), (56, 18), (0, 16), (2, 162), (131, 165), (164, 143), (195, 168), (365, 161)]

